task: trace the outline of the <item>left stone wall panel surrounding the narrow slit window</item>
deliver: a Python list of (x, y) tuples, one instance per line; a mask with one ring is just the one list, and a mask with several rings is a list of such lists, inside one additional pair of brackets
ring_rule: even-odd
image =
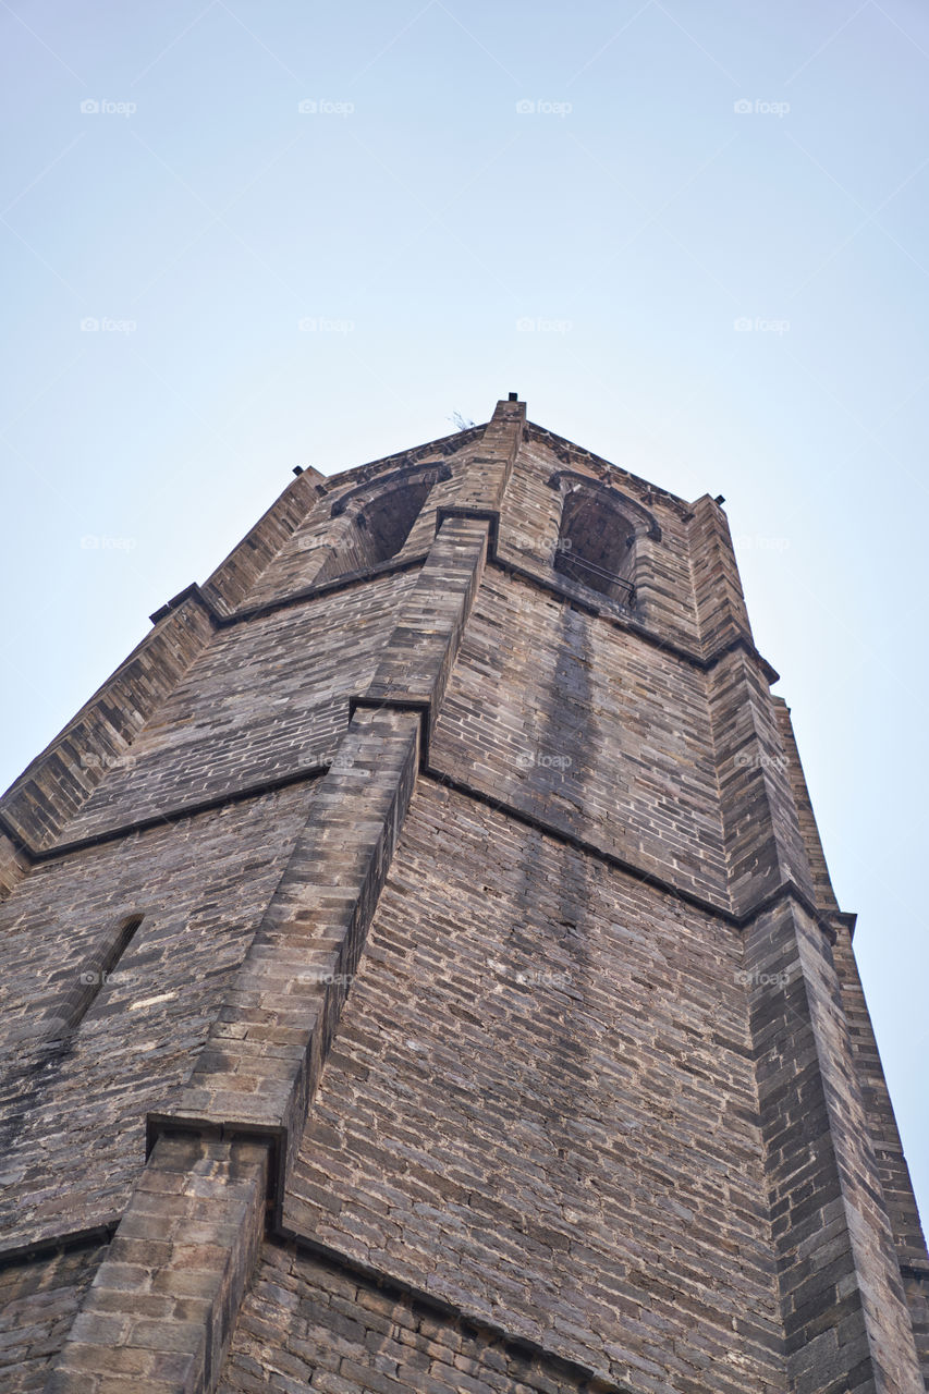
[[(187, 1079), (299, 828), (296, 786), (36, 867), (0, 906), (3, 1245), (119, 1214), (145, 1114)], [(74, 1033), (22, 1039), (86, 970), (100, 928), (145, 919)]]

